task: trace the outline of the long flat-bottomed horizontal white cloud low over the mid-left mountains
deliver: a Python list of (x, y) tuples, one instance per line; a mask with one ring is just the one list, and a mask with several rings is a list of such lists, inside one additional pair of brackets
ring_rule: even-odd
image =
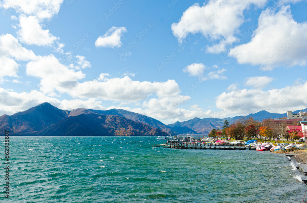
[(166, 82), (133, 81), (130, 77), (107, 78), (104, 73), (99, 80), (78, 83), (75, 88), (67, 91), (73, 97), (99, 98), (113, 101), (140, 101), (148, 95), (155, 94), (158, 97), (176, 96), (180, 88), (174, 80)]

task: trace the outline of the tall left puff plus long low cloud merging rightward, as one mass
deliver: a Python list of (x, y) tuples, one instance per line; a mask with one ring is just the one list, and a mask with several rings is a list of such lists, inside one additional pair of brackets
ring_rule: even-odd
[(173, 97), (180, 93), (174, 80), (166, 82), (133, 81), (130, 77), (110, 78), (101, 73), (99, 79), (80, 83), (85, 74), (61, 64), (53, 55), (39, 56), (26, 65), (26, 74), (41, 78), (40, 90), (49, 96), (68, 93), (73, 98), (95, 98), (111, 101), (140, 101), (150, 94), (159, 98)]

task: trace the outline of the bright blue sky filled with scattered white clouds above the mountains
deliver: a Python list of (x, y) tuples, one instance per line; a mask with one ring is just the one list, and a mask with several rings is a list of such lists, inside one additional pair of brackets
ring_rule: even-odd
[(0, 114), (43, 102), (166, 124), (307, 107), (306, 1), (0, 1)]

